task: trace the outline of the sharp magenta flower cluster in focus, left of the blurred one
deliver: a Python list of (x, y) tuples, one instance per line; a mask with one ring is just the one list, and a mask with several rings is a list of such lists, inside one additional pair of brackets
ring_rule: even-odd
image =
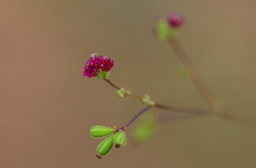
[(84, 66), (84, 76), (88, 78), (92, 78), (98, 76), (99, 71), (108, 72), (114, 66), (114, 60), (108, 58), (108, 56), (99, 56), (97, 57), (97, 53), (93, 53), (88, 60), (88, 62)]

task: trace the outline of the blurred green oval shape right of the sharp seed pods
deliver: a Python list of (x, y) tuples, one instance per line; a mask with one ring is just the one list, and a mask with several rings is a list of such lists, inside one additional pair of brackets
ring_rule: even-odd
[(153, 113), (145, 113), (138, 120), (138, 125), (132, 132), (132, 139), (136, 143), (145, 143), (156, 130), (156, 116)]

